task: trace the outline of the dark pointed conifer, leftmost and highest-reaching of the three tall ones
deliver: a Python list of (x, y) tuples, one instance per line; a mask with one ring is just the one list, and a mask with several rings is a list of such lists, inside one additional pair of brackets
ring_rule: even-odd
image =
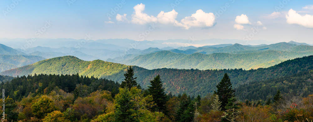
[(131, 89), (131, 87), (136, 87), (137, 82), (136, 79), (137, 77), (134, 77), (134, 69), (129, 66), (129, 69), (127, 69), (126, 73), (124, 74), (124, 81), (121, 83), (121, 88), (128, 88)]

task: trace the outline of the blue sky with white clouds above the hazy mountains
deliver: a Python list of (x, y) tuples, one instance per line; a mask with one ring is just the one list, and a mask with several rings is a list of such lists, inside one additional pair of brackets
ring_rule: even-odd
[(313, 44), (312, 0), (0, 1), (0, 38), (238, 39)]

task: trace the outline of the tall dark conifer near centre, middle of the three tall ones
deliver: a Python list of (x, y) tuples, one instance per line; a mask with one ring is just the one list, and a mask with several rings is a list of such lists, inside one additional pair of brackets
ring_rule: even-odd
[(157, 75), (153, 80), (150, 81), (150, 83), (151, 86), (149, 86), (148, 91), (149, 94), (152, 95), (153, 102), (156, 104), (156, 106), (153, 107), (153, 110), (164, 112), (166, 109), (166, 95), (164, 93), (160, 75)]

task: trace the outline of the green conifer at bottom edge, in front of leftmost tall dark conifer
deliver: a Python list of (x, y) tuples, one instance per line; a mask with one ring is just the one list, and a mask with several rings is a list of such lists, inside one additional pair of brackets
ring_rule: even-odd
[(134, 103), (131, 101), (131, 93), (126, 87), (120, 88), (120, 93), (115, 96), (115, 121), (116, 122), (134, 122), (136, 119), (133, 116)]

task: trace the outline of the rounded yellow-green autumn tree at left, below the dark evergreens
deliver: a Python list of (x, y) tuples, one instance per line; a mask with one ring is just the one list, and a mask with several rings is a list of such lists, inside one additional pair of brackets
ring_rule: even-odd
[(54, 102), (46, 95), (41, 96), (32, 105), (33, 115), (37, 118), (42, 118), (46, 113), (55, 110)]

